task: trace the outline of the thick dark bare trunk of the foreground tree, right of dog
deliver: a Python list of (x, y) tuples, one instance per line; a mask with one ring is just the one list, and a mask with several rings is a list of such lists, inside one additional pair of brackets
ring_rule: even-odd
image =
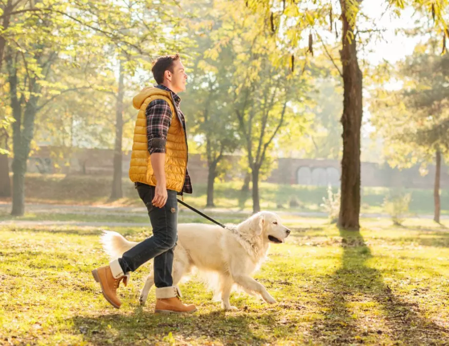
[[(359, 1), (360, 2), (360, 1)], [(356, 40), (347, 39), (351, 31), (346, 17), (346, 1), (342, 6), (343, 48), (343, 158), (339, 227), (358, 230), (360, 214), (360, 128), (362, 124), (362, 72), (357, 61)]]

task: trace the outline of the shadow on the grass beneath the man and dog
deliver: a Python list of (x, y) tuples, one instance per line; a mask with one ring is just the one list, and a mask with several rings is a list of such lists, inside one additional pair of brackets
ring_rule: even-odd
[[(207, 345), (217, 342), (224, 345), (264, 345), (269, 340), (263, 336), (262, 324), (269, 326), (274, 323), (274, 318), (265, 313), (258, 315), (255, 321), (249, 315), (235, 316), (223, 310), (208, 314), (162, 315), (137, 307), (130, 315), (79, 316), (72, 318), (71, 322), (75, 333), (82, 333), (84, 340), (92, 345), (155, 345), (161, 342), (165, 345), (174, 343), (174, 338), (183, 345), (192, 341)], [(257, 332), (259, 327), (260, 333)]]

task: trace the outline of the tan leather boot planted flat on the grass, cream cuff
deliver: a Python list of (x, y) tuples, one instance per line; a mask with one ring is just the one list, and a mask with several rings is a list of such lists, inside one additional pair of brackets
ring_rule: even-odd
[(185, 305), (181, 302), (181, 291), (178, 286), (156, 288), (155, 313), (191, 314), (197, 310), (195, 305)]

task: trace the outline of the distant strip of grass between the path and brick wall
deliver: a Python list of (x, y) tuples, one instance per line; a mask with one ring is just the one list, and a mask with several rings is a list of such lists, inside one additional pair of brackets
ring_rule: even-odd
[[(123, 178), (123, 195), (118, 201), (108, 201), (111, 177), (94, 177), (89, 175), (64, 174), (27, 174), (25, 195), (28, 203), (56, 204), (111, 204), (120, 206), (141, 206), (133, 184)], [(219, 208), (251, 210), (250, 196), (243, 199), (240, 195), (241, 182), (215, 184), (215, 204)], [(336, 190), (335, 190), (336, 191)], [(382, 203), (389, 188), (362, 188), (362, 213), (384, 213)], [(433, 214), (433, 190), (405, 189), (412, 194), (410, 213)], [(321, 212), (323, 197), (327, 196), (326, 187), (301, 185), (260, 184), (261, 207), (270, 210), (290, 210), (303, 212)], [(298, 202), (297, 207), (290, 207), (290, 200)], [(195, 207), (206, 204), (206, 184), (195, 184), (193, 195), (186, 196), (186, 201)], [(243, 204), (242, 204), (243, 203)], [(282, 205), (282, 208), (278, 208)], [(441, 191), (442, 215), (449, 215), (449, 191)]]

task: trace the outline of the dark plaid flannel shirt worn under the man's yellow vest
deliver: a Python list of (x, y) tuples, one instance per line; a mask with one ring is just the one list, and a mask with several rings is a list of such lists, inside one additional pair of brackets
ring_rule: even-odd
[[(184, 114), (179, 108), (181, 103), (181, 98), (171, 91), (169, 88), (163, 85), (156, 86), (162, 90), (170, 91), (173, 95), (173, 100), (175, 100), (175, 107), (181, 116), (183, 122), (183, 127), (185, 131), (185, 118)], [(151, 101), (146, 110), (146, 135), (148, 140), (148, 151), (150, 155), (154, 152), (165, 152), (165, 145), (167, 142), (167, 132), (171, 124), (172, 112), (170, 105), (161, 99)], [(181, 195), (185, 192), (186, 194), (191, 194), (193, 191), (192, 183), (190, 181), (190, 176), (188, 170), (185, 170), (185, 180), (184, 187)]]

